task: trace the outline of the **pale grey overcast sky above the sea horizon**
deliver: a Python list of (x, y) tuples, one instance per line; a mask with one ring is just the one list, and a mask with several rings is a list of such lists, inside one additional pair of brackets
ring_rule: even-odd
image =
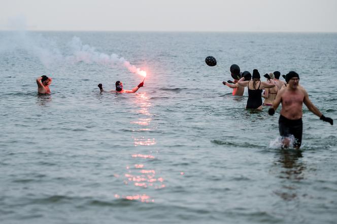
[(0, 0), (0, 30), (337, 32), (337, 0)]

